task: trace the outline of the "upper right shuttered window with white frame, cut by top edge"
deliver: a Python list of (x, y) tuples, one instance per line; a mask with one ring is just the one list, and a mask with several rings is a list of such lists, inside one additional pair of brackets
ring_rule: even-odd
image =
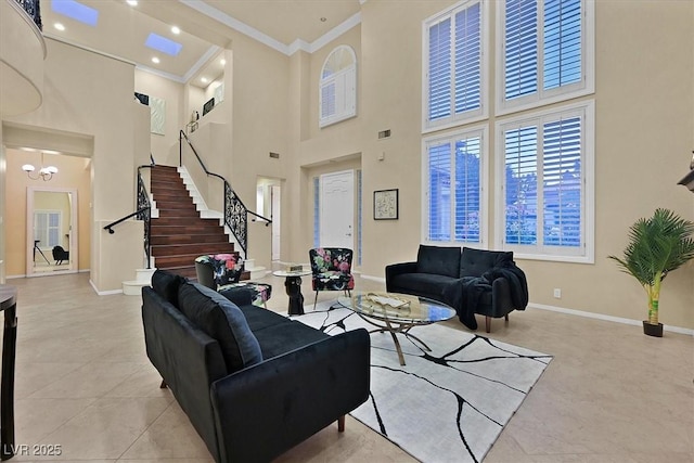
[(592, 93), (593, 0), (505, 0), (500, 10), (498, 114)]

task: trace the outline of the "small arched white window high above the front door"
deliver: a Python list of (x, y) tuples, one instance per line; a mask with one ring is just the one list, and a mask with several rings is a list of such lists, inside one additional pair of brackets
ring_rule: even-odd
[(339, 46), (321, 69), (320, 120), (325, 127), (357, 115), (357, 56), (351, 47)]

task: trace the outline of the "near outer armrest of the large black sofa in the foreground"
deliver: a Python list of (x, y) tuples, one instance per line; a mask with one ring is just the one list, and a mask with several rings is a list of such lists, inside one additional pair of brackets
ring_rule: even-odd
[(221, 461), (271, 461), (369, 397), (365, 330), (349, 331), (215, 382)]

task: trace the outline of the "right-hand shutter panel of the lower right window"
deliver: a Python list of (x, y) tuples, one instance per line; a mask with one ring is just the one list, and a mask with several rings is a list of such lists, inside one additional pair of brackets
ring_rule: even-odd
[(543, 126), (543, 244), (581, 245), (581, 119)]

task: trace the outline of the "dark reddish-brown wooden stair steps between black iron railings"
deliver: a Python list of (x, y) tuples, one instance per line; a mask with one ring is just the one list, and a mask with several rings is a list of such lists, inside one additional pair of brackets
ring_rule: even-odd
[(176, 167), (153, 166), (150, 189), (158, 209), (150, 235), (157, 269), (195, 279), (196, 257), (234, 253), (220, 219), (200, 217)]

